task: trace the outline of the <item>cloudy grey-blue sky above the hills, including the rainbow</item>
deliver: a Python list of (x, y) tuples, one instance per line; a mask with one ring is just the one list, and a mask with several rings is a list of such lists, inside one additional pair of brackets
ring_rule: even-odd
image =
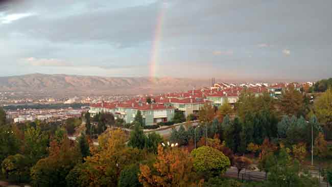
[(0, 77), (332, 77), (330, 0), (1, 1)]

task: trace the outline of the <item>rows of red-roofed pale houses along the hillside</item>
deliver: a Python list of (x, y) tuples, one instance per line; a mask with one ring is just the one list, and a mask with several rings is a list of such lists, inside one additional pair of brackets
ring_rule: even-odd
[[(268, 85), (262, 84), (227, 84), (216, 83), (211, 87), (193, 89), (184, 92), (164, 93), (158, 96), (137, 97), (128, 101), (99, 102), (90, 104), (90, 114), (93, 116), (99, 112), (110, 112), (115, 119), (121, 118), (126, 123), (132, 123), (137, 111), (141, 111), (145, 125), (154, 125), (159, 122), (169, 122), (174, 118), (175, 110), (182, 111), (187, 117), (191, 114), (198, 114), (199, 109), (204, 104), (211, 104), (219, 107), (225, 102), (234, 105), (241, 92), (247, 90), (255, 96), (263, 95), (267, 92), (271, 97), (278, 99), (282, 91), (293, 86), (300, 90), (298, 83), (278, 83)], [(147, 98), (151, 102), (147, 102)]]

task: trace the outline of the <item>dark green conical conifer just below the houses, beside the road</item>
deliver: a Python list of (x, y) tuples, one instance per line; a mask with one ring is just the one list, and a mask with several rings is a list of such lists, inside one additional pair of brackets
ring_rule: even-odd
[(145, 147), (146, 135), (143, 132), (139, 123), (136, 123), (134, 130), (130, 133), (128, 146), (133, 148), (143, 149)]

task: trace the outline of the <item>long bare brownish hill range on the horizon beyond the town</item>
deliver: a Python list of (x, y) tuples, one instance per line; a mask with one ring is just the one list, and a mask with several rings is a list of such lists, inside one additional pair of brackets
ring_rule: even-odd
[(29, 74), (0, 77), (0, 91), (30, 91), (62, 95), (143, 94), (200, 88), (210, 85), (207, 79), (121, 78), (75, 75)]

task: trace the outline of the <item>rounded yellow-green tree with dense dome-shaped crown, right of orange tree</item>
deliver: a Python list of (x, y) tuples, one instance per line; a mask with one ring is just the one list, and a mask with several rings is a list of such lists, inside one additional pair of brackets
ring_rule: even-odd
[(211, 147), (197, 148), (191, 156), (194, 158), (195, 170), (205, 176), (220, 176), (230, 167), (228, 157)]

